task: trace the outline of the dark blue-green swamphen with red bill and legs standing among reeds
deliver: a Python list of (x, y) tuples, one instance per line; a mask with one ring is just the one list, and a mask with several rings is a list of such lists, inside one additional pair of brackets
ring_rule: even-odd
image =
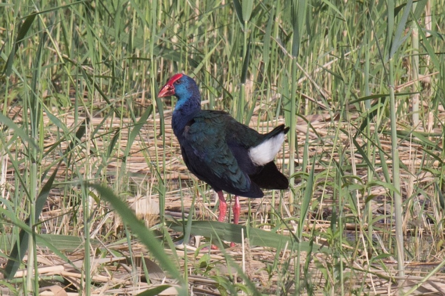
[(195, 81), (176, 74), (159, 91), (158, 97), (178, 98), (172, 127), (187, 168), (218, 193), (220, 213), (226, 215), (223, 190), (235, 195), (233, 223), (238, 224), (238, 196), (259, 198), (260, 188), (287, 189), (287, 178), (273, 163), (289, 127), (275, 127), (267, 134), (258, 133), (228, 113), (201, 110), (201, 95)]

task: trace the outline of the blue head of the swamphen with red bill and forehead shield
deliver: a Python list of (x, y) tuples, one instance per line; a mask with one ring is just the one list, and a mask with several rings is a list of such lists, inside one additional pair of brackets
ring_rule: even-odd
[(196, 97), (200, 100), (198, 86), (195, 81), (183, 74), (175, 74), (170, 78), (170, 80), (162, 86), (158, 93), (158, 97), (167, 97), (174, 95), (179, 101), (187, 100), (191, 97)]

